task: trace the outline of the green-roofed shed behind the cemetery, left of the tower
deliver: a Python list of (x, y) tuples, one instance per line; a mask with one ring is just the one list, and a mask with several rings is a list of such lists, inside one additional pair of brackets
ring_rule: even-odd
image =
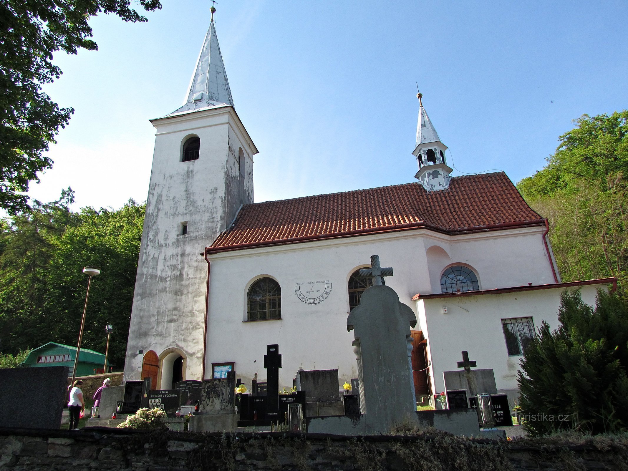
[[(48, 342), (45, 345), (41, 345), (41, 347), (31, 350), (22, 364), (28, 367), (68, 366), (70, 367), (70, 374), (72, 374), (76, 355), (77, 347)], [(90, 349), (80, 349), (77, 374), (75, 376), (102, 373), (104, 362), (104, 354)], [(107, 370), (109, 370), (110, 366), (111, 363), (107, 360)]]

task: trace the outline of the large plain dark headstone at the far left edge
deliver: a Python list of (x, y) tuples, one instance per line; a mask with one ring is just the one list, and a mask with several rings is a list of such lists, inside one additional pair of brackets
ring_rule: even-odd
[(2, 426), (59, 428), (69, 399), (68, 372), (67, 366), (0, 369)]

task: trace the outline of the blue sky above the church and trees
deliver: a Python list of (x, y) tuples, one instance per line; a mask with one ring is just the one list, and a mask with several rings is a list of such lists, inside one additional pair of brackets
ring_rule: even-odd
[[(99, 51), (58, 53), (45, 90), (72, 106), (30, 196), (75, 209), (146, 200), (148, 119), (184, 99), (208, 1), (162, 0), (143, 24), (92, 19)], [(216, 29), (260, 153), (256, 202), (414, 180), (418, 82), (453, 175), (539, 170), (571, 120), (628, 108), (625, 1), (228, 1)]]

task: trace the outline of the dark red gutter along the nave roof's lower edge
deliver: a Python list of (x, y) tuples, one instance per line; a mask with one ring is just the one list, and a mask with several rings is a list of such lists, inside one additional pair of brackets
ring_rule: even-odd
[[(399, 232), (401, 230), (411, 230), (411, 229), (430, 229), (435, 232), (440, 232), (441, 234), (447, 234), (449, 236), (458, 236), (460, 234), (472, 234), (475, 232), (488, 232), (489, 230), (501, 230), (501, 229), (511, 229), (512, 227), (531, 227), (534, 225), (542, 225), (544, 224), (546, 219), (538, 219), (526, 222), (502, 222), (501, 224), (489, 224), (482, 227), (462, 227), (460, 229), (453, 230), (443, 230), (440, 227), (427, 224), (425, 222), (411, 222), (408, 224), (399, 224), (394, 228), (389, 229), (387, 227), (382, 228), (369, 228), (369, 229), (356, 229), (349, 230), (347, 232), (340, 232), (337, 235), (326, 236), (321, 234), (316, 234), (313, 236), (302, 236), (302, 237), (291, 237), (290, 239), (279, 239), (278, 241), (262, 241), (262, 242), (247, 242), (244, 244), (235, 244), (232, 246), (222, 246), (222, 247), (206, 247), (205, 248), (205, 256), (207, 254), (215, 254), (217, 252), (230, 252), (236, 250), (243, 249), (254, 249), (256, 247), (267, 247), (267, 246), (283, 246), (287, 244), (298, 244), (300, 242), (309, 242), (316, 241), (318, 239), (344, 239), (345, 237), (354, 237), (354, 236), (363, 236), (365, 234), (381, 234), (384, 232)], [(219, 237), (220, 239), (220, 237)]]

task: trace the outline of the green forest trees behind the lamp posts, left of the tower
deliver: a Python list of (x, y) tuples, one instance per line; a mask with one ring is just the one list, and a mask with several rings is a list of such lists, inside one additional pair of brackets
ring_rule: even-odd
[(109, 360), (121, 366), (144, 205), (131, 200), (117, 211), (72, 213), (72, 200), (68, 188), (57, 202), (35, 202), (0, 226), (0, 352), (50, 341), (75, 345), (87, 290), (82, 268), (92, 265), (102, 273), (92, 281), (82, 346), (104, 352), (104, 328), (113, 325)]

